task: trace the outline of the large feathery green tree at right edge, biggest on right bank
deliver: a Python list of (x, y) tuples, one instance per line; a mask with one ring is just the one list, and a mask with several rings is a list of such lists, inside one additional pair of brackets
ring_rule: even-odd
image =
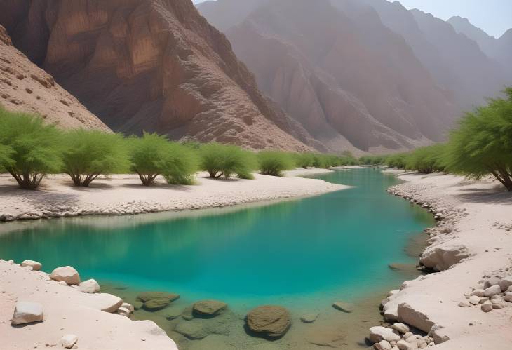
[(447, 170), (479, 179), (492, 174), (512, 191), (512, 88), (466, 113), (450, 134), (443, 154)]

